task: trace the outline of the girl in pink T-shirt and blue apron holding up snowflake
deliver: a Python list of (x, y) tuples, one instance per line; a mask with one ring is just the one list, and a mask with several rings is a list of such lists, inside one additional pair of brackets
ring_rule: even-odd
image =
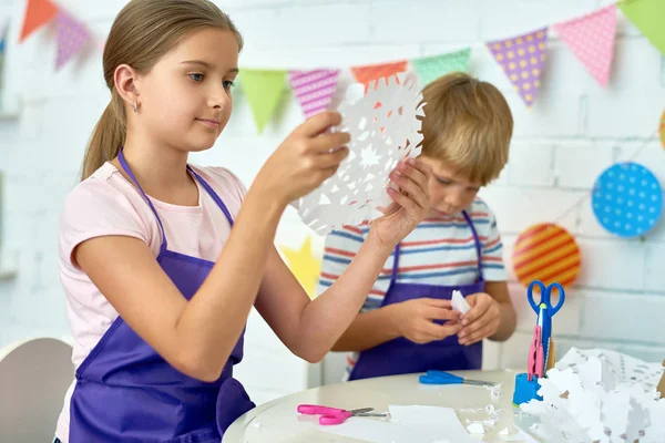
[(187, 165), (228, 121), (241, 48), (208, 0), (132, 0), (112, 25), (111, 103), (61, 220), (78, 367), (63, 442), (218, 442), (254, 408), (233, 378), (252, 306), (295, 354), (320, 361), (428, 210), (430, 168), (400, 164), (391, 179), (403, 193), (390, 190), (354, 264), (310, 301), (273, 239), (286, 205), (346, 157), (349, 135), (327, 131), (339, 114), (298, 126), (248, 192), (227, 169)]

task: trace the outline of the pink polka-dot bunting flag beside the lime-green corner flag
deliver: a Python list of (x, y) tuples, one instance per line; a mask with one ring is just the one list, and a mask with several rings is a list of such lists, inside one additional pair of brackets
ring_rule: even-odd
[(606, 86), (614, 54), (616, 4), (554, 24), (552, 28), (591, 75), (602, 86)]

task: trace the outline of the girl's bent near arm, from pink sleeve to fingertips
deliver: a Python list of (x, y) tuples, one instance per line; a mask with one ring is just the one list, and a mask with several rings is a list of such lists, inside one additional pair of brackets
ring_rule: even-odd
[(330, 152), (348, 143), (348, 134), (324, 134), (339, 122), (338, 113), (317, 114), (268, 158), (215, 266), (190, 302), (140, 239), (92, 238), (74, 249), (73, 260), (174, 368), (204, 381), (218, 379), (256, 298), (284, 208), (331, 176), (348, 153)]

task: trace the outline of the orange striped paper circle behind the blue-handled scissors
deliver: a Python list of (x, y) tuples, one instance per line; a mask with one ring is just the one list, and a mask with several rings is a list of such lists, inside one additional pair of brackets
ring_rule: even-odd
[(538, 224), (518, 237), (512, 264), (518, 280), (524, 286), (541, 280), (545, 285), (559, 282), (567, 288), (580, 274), (580, 248), (561, 226)]

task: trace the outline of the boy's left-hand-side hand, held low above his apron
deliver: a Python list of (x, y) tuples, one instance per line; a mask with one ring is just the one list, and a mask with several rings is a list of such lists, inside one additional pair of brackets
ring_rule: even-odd
[[(460, 312), (451, 309), (450, 300), (417, 298), (389, 306), (395, 310), (392, 319), (398, 333), (415, 343), (443, 340), (456, 334), (461, 328), (457, 321)], [(452, 321), (438, 324), (432, 320)]]

